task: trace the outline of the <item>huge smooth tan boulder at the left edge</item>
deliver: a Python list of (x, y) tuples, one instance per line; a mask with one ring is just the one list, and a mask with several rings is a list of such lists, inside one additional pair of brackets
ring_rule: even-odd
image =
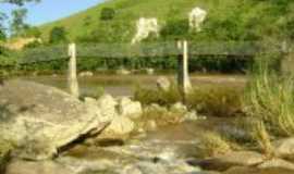
[(50, 159), (81, 136), (105, 128), (99, 112), (53, 87), (5, 82), (0, 88), (1, 138), (15, 146), (13, 156)]

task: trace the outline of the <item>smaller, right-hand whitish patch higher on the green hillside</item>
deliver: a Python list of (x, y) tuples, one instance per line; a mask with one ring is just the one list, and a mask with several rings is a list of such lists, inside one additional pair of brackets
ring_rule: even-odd
[(206, 20), (207, 12), (200, 8), (194, 8), (188, 15), (189, 27), (192, 30), (201, 32), (201, 23)]

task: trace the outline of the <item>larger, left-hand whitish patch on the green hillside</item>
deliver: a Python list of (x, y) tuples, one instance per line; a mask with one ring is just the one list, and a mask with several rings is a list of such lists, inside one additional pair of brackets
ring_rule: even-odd
[(137, 33), (132, 39), (132, 45), (148, 38), (150, 34), (155, 34), (156, 37), (159, 37), (159, 32), (160, 27), (157, 18), (142, 17), (137, 21)]

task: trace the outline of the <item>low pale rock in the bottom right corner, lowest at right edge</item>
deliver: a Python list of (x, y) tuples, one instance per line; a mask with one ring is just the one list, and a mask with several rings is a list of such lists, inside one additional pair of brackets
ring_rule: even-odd
[(280, 167), (280, 169), (293, 170), (294, 172), (294, 164), (285, 160), (281, 160), (281, 159), (271, 159), (271, 160), (265, 161), (264, 163), (258, 165), (258, 167), (259, 169)]

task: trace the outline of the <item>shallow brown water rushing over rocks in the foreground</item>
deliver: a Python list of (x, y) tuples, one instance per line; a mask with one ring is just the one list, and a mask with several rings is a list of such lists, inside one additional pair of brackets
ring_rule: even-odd
[(200, 169), (186, 163), (188, 159), (198, 156), (197, 137), (208, 125), (219, 126), (222, 123), (219, 119), (188, 122), (134, 135), (125, 144), (109, 141), (102, 147), (95, 144), (78, 145), (57, 161), (74, 171), (97, 174), (133, 174), (134, 171), (144, 174), (198, 173)]

